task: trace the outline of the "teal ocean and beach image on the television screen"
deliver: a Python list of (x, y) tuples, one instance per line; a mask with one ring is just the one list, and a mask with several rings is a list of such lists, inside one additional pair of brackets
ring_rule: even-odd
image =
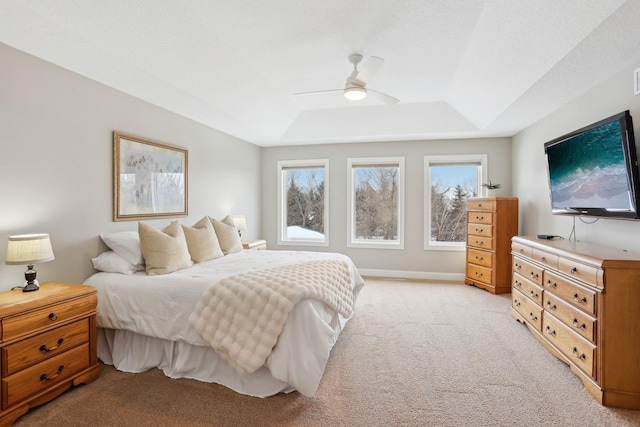
[(619, 122), (547, 147), (552, 207), (629, 210)]

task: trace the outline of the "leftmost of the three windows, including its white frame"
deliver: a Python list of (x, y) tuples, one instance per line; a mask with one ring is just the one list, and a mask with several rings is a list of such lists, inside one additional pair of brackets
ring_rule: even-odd
[(329, 245), (329, 160), (278, 162), (278, 244)]

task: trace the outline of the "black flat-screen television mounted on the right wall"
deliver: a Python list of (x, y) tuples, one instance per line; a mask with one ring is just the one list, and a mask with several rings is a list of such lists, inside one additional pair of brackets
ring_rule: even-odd
[(544, 144), (551, 210), (638, 219), (638, 160), (629, 111)]

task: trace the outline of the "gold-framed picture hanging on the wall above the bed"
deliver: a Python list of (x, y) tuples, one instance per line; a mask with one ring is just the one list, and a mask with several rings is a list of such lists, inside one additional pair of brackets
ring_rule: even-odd
[(113, 220), (186, 216), (188, 150), (113, 132)]

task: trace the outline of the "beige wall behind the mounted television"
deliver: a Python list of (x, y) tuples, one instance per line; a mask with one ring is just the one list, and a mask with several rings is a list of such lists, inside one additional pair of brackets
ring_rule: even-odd
[[(513, 187), (520, 199), (521, 233), (568, 238), (573, 218), (551, 214), (544, 143), (624, 110), (640, 136), (640, 95), (633, 95), (634, 64), (513, 137)], [(637, 146), (637, 144), (636, 144)], [(593, 221), (585, 218), (586, 222)], [(578, 240), (640, 252), (640, 221), (600, 219), (576, 223)]]

